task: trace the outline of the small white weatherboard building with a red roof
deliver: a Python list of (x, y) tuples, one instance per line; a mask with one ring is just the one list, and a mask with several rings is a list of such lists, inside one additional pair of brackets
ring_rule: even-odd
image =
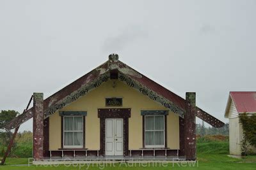
[[(229, 152), (241, 155), (243, 127), (239, 123), (239, 114), (256, 113), (256, 92), (230, 92), (225, 110), (225, 118), (229, 120)], [(251, 148), (255, 150), (255, 148)], [(255, 150), (256, 151), (256, 150)]]

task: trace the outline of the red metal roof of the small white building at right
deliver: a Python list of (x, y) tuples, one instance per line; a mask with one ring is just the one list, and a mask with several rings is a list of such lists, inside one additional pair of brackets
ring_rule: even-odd
[(230, 92), (239, 113), (256, 113), (256, 92)]

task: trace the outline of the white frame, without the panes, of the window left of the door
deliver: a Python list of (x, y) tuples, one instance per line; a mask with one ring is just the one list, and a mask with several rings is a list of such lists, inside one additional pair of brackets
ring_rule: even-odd
[[(83, 148), (83, 143), (84, 143), (84, 129), (82, 129), (81, 131), (65, 131), (65, 117), (72, 117), (73, 119), (73, 129), (74, 129), (74, 117), (81, 117), (82, 121), (83, 121), (83, 128), (84, 128), (84, 118), (83, 116), (63, 116), (63, 148)], [(74, 143), (74, 132), (82, 132), (83, 137), (82, 137), (82, 145), (65, 145), (65, 132), (73, 132), (73, 143)]]

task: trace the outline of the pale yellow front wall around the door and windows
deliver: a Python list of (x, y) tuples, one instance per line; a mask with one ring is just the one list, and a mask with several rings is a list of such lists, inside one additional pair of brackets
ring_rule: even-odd
[[(113, 88), (113, 81), (116, 81), (115, 88)], [(90, 150), (99, 150), (100, 120), (97, 109), (106, 108), (106, 97), (122, 97), (123, 106), (119, 108), (131, 108), (131, 118), (129, 118), (129, 150), (142, 148), (141, 110), (166, 110), (166, 108), (125, 85), (122, 81), (109, 80), (102, 83), (100, 87), (65, 106), (61, 111), (87, 111), (85, 118), (85, 146)], [(169, 111), (166, 122), (167, 147), (179, 149), (179, 117)], [(58, 150), (58, 148), (61, 148), (61, 118), (59, 112), (56, 112), (49, 118), (49, 149)]]

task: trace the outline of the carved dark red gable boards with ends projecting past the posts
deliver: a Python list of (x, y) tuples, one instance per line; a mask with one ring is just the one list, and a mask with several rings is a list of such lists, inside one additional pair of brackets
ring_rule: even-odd
[[(104, 64), (93, 69), (73, 83), (70, 83), (70, 85), (67, 85), (67, 87), (64, 87), (60, 91), (45, 99), (45, 118), (49, 117), (73, 101), (76, 101), (79, 99), (79, 97), (88, 94), (88, 92), (91, 90), (99, 87), (101, 83), (108, 81), (113, 77), (123, 81), (133, 89), (138, 90), (138, 92), (141, 92), (141, 94), (156, 101), (156, 103), (163, 105), (165, 108), (173, 111), (173, 113), (176, 113), (180, 117), (184, 117), (186, 104), (188, 104), (185, 99), (177, 94), (174, 94), (170, 90), (165, 89), (155, 81), (150, 80), (143, 74), (127, 66), (118, 60), (118, 55), (109, 55), (109, 60), (107, 62), (104, 62)], [(223, 122), (197, 107), (196, 116), (214, 127), (221, 127), (224, 125)], [(14, 118), (12, 122), (7, 125), (7, 128), (13, 129), (32, 117), (33, 108), (26, 111), (26, 113), (19, 115), (19, 117)]]

